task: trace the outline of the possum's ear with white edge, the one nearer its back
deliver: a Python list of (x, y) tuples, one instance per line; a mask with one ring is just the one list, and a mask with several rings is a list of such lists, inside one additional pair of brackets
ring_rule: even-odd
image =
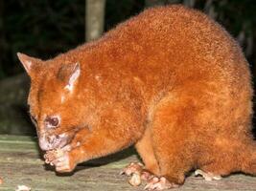
[(81, 74), (80, 64), (64, 64), (58, 71), (58, 79), (65, 83), (65, 89), (72, 92)]

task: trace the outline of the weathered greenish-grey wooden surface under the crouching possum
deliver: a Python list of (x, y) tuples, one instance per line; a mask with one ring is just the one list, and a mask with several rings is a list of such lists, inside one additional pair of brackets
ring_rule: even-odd
[[(0, 136), (0, 177), (3, 179), (0, 190), (13, 191), (17, 185), (27, 185), (32, 191), (143, 190), (143, 186), (130, 186), (128, 178), (119, 175), (123, 167), (136, 160), (135, 152), (128, 149), (105, 159), (88, 161), (78, 166), (74, 174), (61, 176), (44, 165), (35, 138)], [(233, 175), (222, 180), (205, 181), (192, 175), (183, 186), (173, 190), (256, 191), (256, 177)]]

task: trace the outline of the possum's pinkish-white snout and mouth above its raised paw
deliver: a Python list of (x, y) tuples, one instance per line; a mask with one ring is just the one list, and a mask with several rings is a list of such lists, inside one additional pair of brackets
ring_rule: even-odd
[(67, 134), (60, 135), (42, 135), (39, 137), (39, 146), (41, 150), (48, 151), (62, 148), (69, 142)]

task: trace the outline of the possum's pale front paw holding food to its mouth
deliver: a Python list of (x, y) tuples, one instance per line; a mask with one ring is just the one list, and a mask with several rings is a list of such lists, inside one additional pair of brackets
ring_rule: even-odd
[(47, 151), (44, 159), (46, 163), (54, 165), (59, 173), (71, 172), (77, 164), (70, 151), (66, 148)]

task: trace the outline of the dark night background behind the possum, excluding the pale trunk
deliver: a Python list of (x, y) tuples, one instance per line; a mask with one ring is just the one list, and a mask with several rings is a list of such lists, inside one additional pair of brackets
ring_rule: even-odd
[[(254, 0), (106, 0), (105, 31), (150, 4), (171, 3), (204, 11), (221, 23), (239, 41), (256, 74)], [(29, 79), (16, 53), (48, 59), (77, 47), (85, 41), (84, 15), (84, 0), (0, 0), (0, 133), (35, 134), (26, 106)]]

